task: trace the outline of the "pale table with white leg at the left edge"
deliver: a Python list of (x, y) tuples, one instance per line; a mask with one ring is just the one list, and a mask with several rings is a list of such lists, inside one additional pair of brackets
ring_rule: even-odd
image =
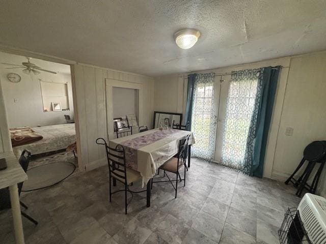
[(22, 230), (20, 204), (17, 184), (25, 181), (27, 175), (21, 168), (17, 158), (12, 151), (0, 153), (0, 159), (6, 158), (8, 168), (0, 170), (0, 189), (9, 187), (11, 211), (14, 222), (15, 240), (18, 244), (24, 244), (24, 233)]

